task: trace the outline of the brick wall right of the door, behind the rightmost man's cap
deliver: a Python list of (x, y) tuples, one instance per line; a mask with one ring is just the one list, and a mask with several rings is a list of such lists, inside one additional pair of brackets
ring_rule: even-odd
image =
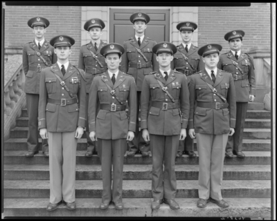
[(229, 50), (224, 35), (231, 30), (244, 30), (242, 49), (254, 46), (270, 48), (270, 3), (251, 3), (250, 7), (199, 7), (198, 46), (220, 44)]

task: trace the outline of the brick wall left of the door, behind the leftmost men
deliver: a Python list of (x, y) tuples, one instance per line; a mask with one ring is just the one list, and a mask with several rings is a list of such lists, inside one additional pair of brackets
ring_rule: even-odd
[(75, 39), (69, 58), (73, 65), (78, 64), (81, 46), (81, 6), (4, 6), (5, 8), (5, 47), (24, 46), (35, 37), (27, 25), (32, 17), (45, 17), (50, 26), (44, 35), (47, 41), (56, 35), (69, 35)]

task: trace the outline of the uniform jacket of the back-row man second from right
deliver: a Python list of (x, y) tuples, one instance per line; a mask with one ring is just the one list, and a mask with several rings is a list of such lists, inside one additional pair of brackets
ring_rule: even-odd
[[(188, 82), (190, 81), (190, 75), (193, 75), (193, 73), (197, 73), (199, 70), (202, 70), (205, 68), (204, 62), (202, 60), (202, 57), (198, 55), (198, 47), (191, 44), (190, 50), (186, 52), (186, 49), (184, 48), (183, 44), (180, 44), (177, 46), (177, 52), (174, 55), (173, 61), (171, 61), (171, 68), (175, 69), (181, 73), (185, 73), (185, 70), (188, 70), (188, 73), (185, 73), (188, 78)], [(181, 54), (183, 53), (188, 57), (188, 61), (185, 60), (184, 56)], [(188, 64), (189, 63), (189, 64)], [(190, 66), (193, 65), (193, 68), (195, 71), (193, 71), (193, 68)]]

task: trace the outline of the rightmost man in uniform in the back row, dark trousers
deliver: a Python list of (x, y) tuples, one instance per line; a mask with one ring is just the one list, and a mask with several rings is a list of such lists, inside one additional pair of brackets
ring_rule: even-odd
[(229, 41), (230, 51), (220, 55), (220, 62), (217, 67), (226, 70), (233, 75), (235, 82), (235, 93), (237, 102), (237, 121), (235, 124), (235, 134), (229, 137), (226, 145), (226, 157), (244, 157), (242, 153), (242, 137), (244, 122), (247, 116), (248, 102), (253, 102), (256, 94), (255, 72), (253, 57), (246, 52), (242, 52), (243, 30), (233, 30), (226, 33), (224, 39)]

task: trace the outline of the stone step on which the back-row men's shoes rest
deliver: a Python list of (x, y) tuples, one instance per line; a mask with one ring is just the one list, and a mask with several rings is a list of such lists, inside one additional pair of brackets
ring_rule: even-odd
[[(84, 157), (86, 151), (77, 151), (76, 164), (90, 164), (90, 165), (100, 165), (100, 159), (98, 156), (93, 155), (92, 157)], [(197, 157), (188, 157), (188, 155), (183, 155), (177, 157), (176, 164), (198, 164), (198, 153)], [(49, 164), (47, 157), (42, 155), (39, 151), (34, 157), (25, 157), (26, 151), (4, 151), (4, 164)], [(271, 164), (271, 152), (269, 151), (245, 151), (244, 158), (233, 157), (225, 158), (224, 164), (233, 165), (249, 165), (249, 164)], [(141, 155), (135, 155), (134, 157), (126, 157), (125, 153), (124, 164), (152, 164), (152, 157), (141, 157)]]

